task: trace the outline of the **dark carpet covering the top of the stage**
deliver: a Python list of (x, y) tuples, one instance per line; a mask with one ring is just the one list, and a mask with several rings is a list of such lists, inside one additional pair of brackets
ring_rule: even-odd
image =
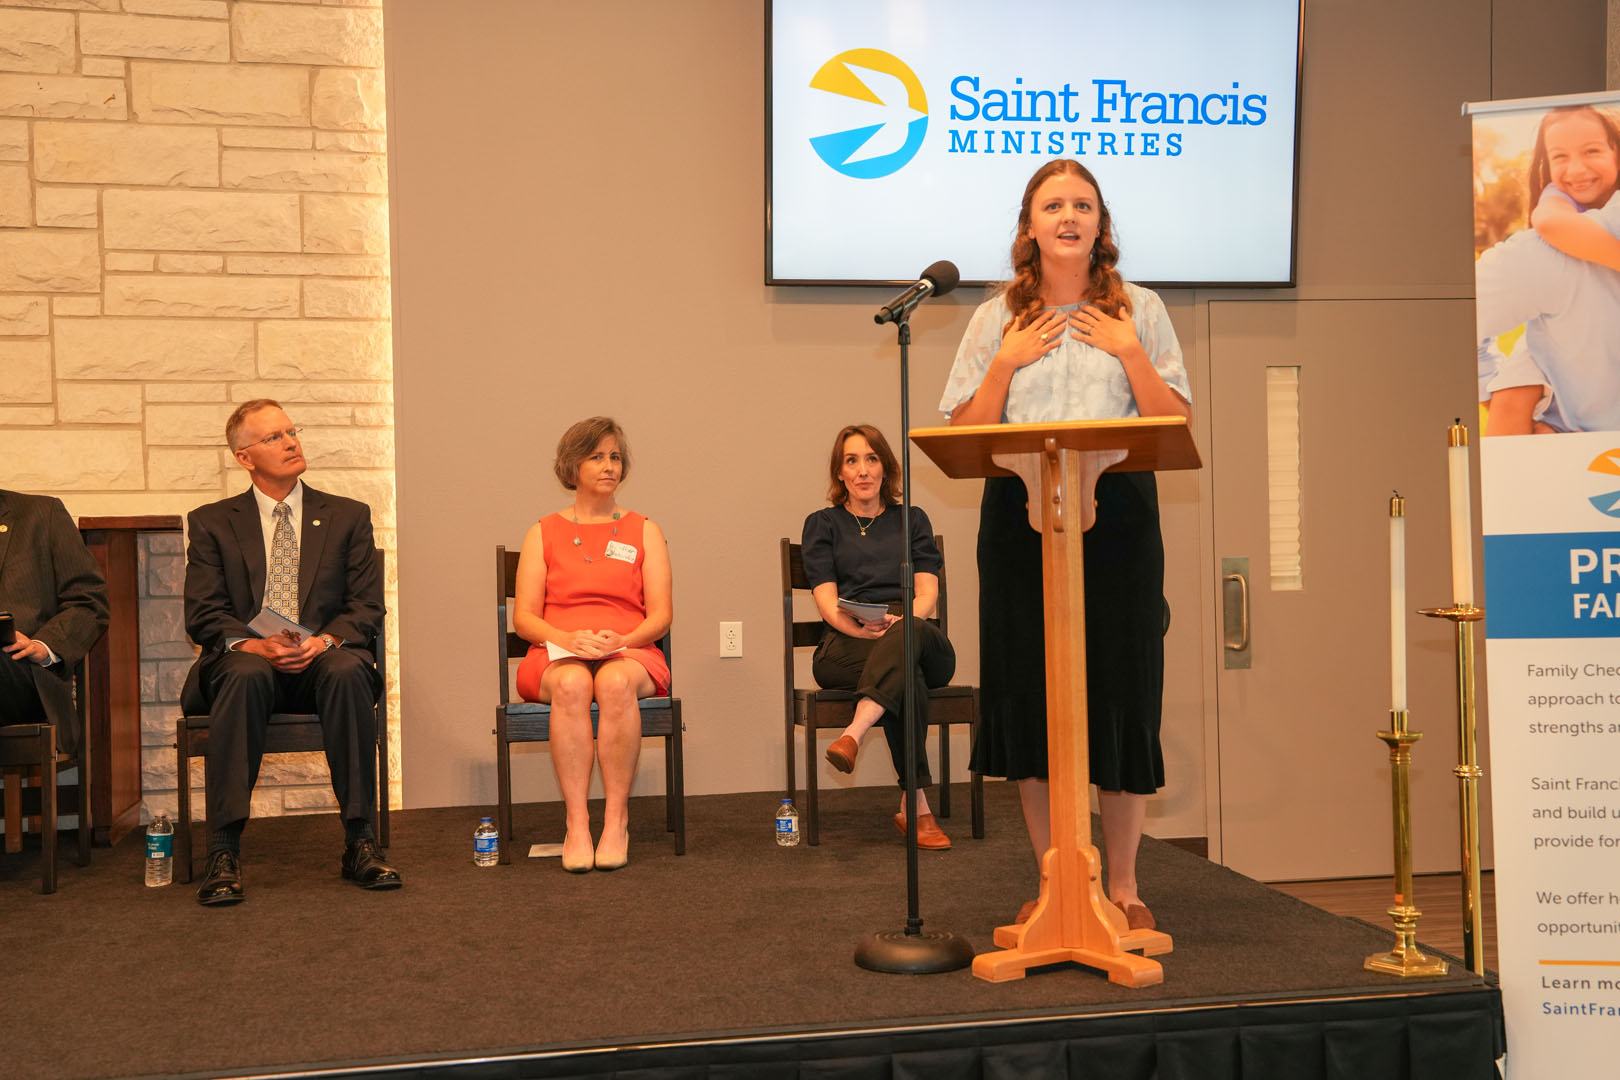
[[(922, 853), (925, 928), (978, 950), (1037, 887), (1016, 790), (985, 792), (987, 839), (969, 836), (961, 785), (956, 818), (943, 823), (954, 850)], [(254, 821), (243, 840), (248, 900), (214, 910), (186, 886), (144, 887), (139, 836), (81, 870), (70, 834), (50, 897), (39, 895), (37, 848), (0, 857), (5, 1074), (212, 1074), (1414, 989), (1361, 970), (1390, 947), (1390, 931), (1153, 840), (1142, 892), (1176, 942), (1160, 957), (1162, 986), (1124, 989), (1076, 967), (1001, 984), (967, 970), (863, 972), (850, 960), (862, 934), (904, 926), (894, 798), (888, 787), (825, 793), (815, 848), (774, 845), (773, 793), (690, 798), (680, 858), (663, 800), (642, 798), (630, 865), (580, 876), (557, 860), (473, 866), (483, 810), (403, 811), (389, 855), (405, 887), (382, 894), (339, 879), (335, 818)], [(561, 806), (520, 806), (518, 848), (561, 839)], [(1479, 984), (1466, 973), (1439, 981)]]

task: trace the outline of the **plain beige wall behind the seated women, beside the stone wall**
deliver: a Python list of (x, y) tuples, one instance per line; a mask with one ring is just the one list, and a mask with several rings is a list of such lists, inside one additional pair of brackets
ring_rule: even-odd
[[(492, 648), (494, 544), (517, 546), (530, 523), (565, 504), (551, 478), (556, 439), (582, 416), (611, 413), (637, 453), (624, 502), (663, 525), (674, 559), (688, 790), (776, 789), (776, 541), (797, 539), (805, 515), (825, 505), (826, 455), (841, 424), (872, 421), (899, 436), (894, 335), (872, 324), (889, 290), (761, 285), (758, 66), (721, 65), (695, 81), (684, 60), (713, 49), (757, 55), (757, 8), (497, 10), (510, 19), (502, 39), (530, 42), (522, 62), (486, 63), (488, 32), (433, 8), (387, 11), (403, 646), (426, 657), (437, 625), (467, 636), (478, 654)], [(625, 79), (603, 87), (604, 113), (656, 102), (656, 117), (700, 118), (697, 131), (663, 120), (640, 128), (633, 160), (672, 162), (669, 168), (573, 164), (599, 154), (617, 160), (620, 151), (608, 130), (569, 115), (548, 117), (544, 138), (510, 138), (531, 126), (522, 105), (526, 73), (544, 70), (554, 86), (590, 79), (593, 42), (611, 40), (632, 42), (637, 60)], [(467, 94), (512, 105), (457, 108), (433, 86), (431, 73), (444, 65), (475, 79)], [(703, 154), (693, 154), (692, 138)], [(596, 149), (562, 160), (549, 149), (559, 142)], [(465, 198), (468, 176), (478, 178), (476, 199)], [(679, 209), (616, 209), (648, 199)], [(648, 220), (656, 222), (651, 244)], [(630, 285), (638, 280), (648, 287)], [(940, 389), (978, 300), (964, 290), (919, 313), (914, 423), (940, 421)], [(1189, 311), (1178, 308), (1176, 319), (1191, 335)], [(977, 682), (980, 486), (943, 478), (922, 455), (914, 471), (915, 500), (946, 536), (957, 677)], [(1166, 696), (1174, 714), (1166, 717), (1166, 753), (1178, 772), (1155, 803), (1152, 827), (1183, 836), (1204, 831), (1197, 489), (1165, 491), (1171, 560), (1187, 560), (1171, 597), (1171, 649), (1189, 674)], [(744, 622), (742, 659), (716, 656), (719, 620)], [(402, 675), (407, 798), (491, 800), (492, 677), (452, 678), (410, 656)], [(966, 735), (953, 758), (966, 776)], [(821, 769), (833, 787), (893, 784), (881, 751), (865, 755), (854, 777)], [(518, 751), (515, 777), (518, 798), (556, 797), (543, 751)], [(661, 792), (663, 784), (661, 758), (648, 748), (637, 790)]]

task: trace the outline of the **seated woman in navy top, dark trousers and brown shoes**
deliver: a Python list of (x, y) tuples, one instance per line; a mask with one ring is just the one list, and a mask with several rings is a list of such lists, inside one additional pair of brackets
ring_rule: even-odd
[[(805, 518), (804, 565), (816, 610), (826, 623), (816, 646), (812, 674), (826, 690), (854, 690), (860, 695), (855, 717), (844, 733), (826, 750), (826, 759), (839, 772), (855, 767), (860, 740), (873, 724), (883, 725), (889, 758), (906, 785), (906, 708), (907, 680), (902, 677), (904, 644), (901, 633), (901, 495), (899, 465), (894, 452), (876, 427), (850, 424), (833, 440), (828, 463), (831, 507)], [(917, 669), (910, 693), (915, 695), (917, 761), (917, 845), (933, 850), (951, 847), (928, 810), (922, 789), (928, 774), (928, 687), (943, 687), (956, 674), (956, 651), (936, 625), (928, 622), (940, 599), (940, 568), (944, 560), (933, 542), (928, 515), (912, 507), (910, 520), (912, 572), (915, 601), (912, 606), (912, 641)], [(894, 824), (906, 832), (906, 797)]]

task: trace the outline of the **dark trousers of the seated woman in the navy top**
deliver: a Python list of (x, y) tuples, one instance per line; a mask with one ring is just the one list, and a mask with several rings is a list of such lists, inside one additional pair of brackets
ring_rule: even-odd
[[(912, 758), (917, 761), (917, 787), (933, 784), (928, 772), (928, 687), (944, 687), (956, 674), (956, 649), (936, 625), (925, 619), (912, 619), (912, 641), (917, 649), (917, 667), (912, 672), (912, 698), (917, 701), (915, 738)], [(899, 785), (906, 787), (906, 667), (901, 623), (889, 627), (881, 638), (850, 638), (828, 630), (815, 649), (810, 674), (823, 690), (854, 690), (862, 698), (872, 698), (883, 706), (883, 738), (889, 743), (889, 759)]]

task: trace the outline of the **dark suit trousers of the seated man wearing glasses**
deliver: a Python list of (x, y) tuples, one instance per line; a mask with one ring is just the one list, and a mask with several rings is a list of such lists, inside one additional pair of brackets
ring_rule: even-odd
[(246, 821), (272, 712), (321, 717), (332, 793), (345, 821), (369, 818), (377, 801), (377, 674), (364, 649), (330, 649), (296, 675), (262, 656), (225, 653), (202, 674), (207, 688), (207, 824)]

